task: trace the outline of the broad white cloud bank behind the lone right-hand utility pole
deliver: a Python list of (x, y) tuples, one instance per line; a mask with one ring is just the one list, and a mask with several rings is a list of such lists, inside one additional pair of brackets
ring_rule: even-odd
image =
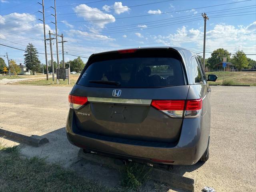
[[(248, 26), (232, 26), (226, 24), (216, 24), (213, 29), (206, 31), (206, 49), (207, 46), (211, 47), (219, 47), (219, 46), (227, 46), (226, 49), (228, 51), (234, 53), (236, 50), (241, 50), (245, 46), (255, 47), (256, 36), (255, 34), (250, 34), (256, 31), (256, 22), (249, 24)], [(238, 36), (237, 36), (238, 35)], [(230, 37), (226, 37), (230, 36)], [(218, 38), (216, 38), (218, 37)], [(219, 38), (223, 37), (223, 38)], [(155, 42), (163, 43), (166, 46), (191, 46), (191, 44), (195, 44), (194, 46), (203, 46), (204, 32), (203, 29), (188, 29), (185, 26), (182, 28), (178, 28), (174, 34), (169, 34), (168, 36), (153, 36)], [(188, 40), (188, 41), (186, 41)], [(182, 42), (184, 41), (184, 42)], [(169, 43), (166, 43), (169, 42)], [(228, 48), (228, 47), (236, 47)], [(208, 48), (210, 49), (210, 48)], [(202, 52), (197, 50), (198, 52)], [(246, 50), (244, 50), (246, 53)], [(251, 51), (248, 51), (251, 52)], [(207, 55), (207, 57), (210, 54)], [(253, 58), (253, 56), (249, 56)], [(255, 57), (255, 56), (254, 56)]]

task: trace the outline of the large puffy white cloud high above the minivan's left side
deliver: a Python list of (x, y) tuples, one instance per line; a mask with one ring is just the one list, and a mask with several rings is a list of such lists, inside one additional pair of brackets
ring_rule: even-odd
[[(84, 18), (84, 20), (98, 20), (92, 21), (92, 25), (104, 28), (106, 24), (115, 22), (115, 18), (111, 14), (106, 14), (100, 11), (98, 8), (92, 8), (86, 4), (80, 4), (74, 8), (74, 12), (77, 13), (78, 17)], [(86, 13), (92, 12), (92, 13)]]

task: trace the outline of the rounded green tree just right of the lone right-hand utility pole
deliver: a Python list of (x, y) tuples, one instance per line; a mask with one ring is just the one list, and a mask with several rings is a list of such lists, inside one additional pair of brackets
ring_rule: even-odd
[(211, 57), (207, 60), (207, 66), (213, 69), (214, 65), (223, 61), (224, 57), (227, 58), (227, 62), (230, 62), (230, 54), (228, 50), (225, 50), (223, 48), (214, 50), (213, 53), (211, 54)]

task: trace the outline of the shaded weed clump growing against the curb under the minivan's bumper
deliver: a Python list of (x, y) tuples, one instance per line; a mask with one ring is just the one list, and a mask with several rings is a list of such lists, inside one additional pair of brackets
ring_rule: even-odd
[(122, 187), (126, 190), (138, 190), (147, 180), (150, 179), (151, 168), (145, 165), (131, 163), (125, 167)]

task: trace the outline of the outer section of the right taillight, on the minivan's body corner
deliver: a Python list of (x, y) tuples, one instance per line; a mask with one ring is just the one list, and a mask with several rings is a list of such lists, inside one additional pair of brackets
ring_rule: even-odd
[(195, 118), (200, 116), (202, 103), (202, 99), (187, 100), (184, 118)]

